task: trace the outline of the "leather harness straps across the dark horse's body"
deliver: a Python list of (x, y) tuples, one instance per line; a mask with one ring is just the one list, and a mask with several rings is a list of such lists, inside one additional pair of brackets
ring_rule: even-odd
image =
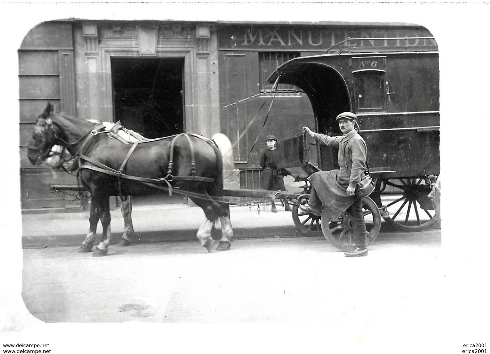
[[(81, 162), (80, 167), (78, 168), (77, 178), (78, 178), (79, 173), (82, 169), (91, 169), (91, 170), (94, 170), (97, 172), (101, 172), (101, 173), (105, 173), (105, 174), (108, 174), (111, 176), (115, 176), (118, 178), (118, 190), (119, 190), (119, 196), (121, 198), (123, 197), (122, 187), (121, 187), (123, 179), (139, 181), (139, 182), (142, 182), (145, 184), (151, 184), (151, 185), (167, 184), (167, 188), (168, 188), (170, 196), (172, 196), (172, 188), (173, 188), (172, 182), (178, 182), (178, 181), (198, 181), (198, 182), (206, 182), (206, 183), (214, 183), (215, 182), (214, 178), (196, 176), (196, 161), (195, 161), (195, 154), (194, 154), (194, 146), (193, 146), (191, 138), (189, 136), (195, 136), (195, 137), (197, 137), (201, 140), (204, 140), (208, 143), (214, 143), (211, 139), (207, 139), (207, 138), (201, 137), (197, 134), (191, 134), (191, 133), (182, 133), (182, 134), (177, 134), (174, 136), (165, 137), (165, 138), (158, 138), (158, 139), (147, 139), (147, 138), (144, 138), (143, 136), (140, 136), (144, 139), (144, 141), (139, 141), (139, 142), (125, 142), (124, 141), (126, 144), (133, 144), (133, 145), (131, 146), (128, 153), (126, 154), (126, 156), (123, 160), (123, 163), (119, 166), (118, 169), (114, 169), (114, 168), (109, 167), (107, 165), (104, 165), (104, 164), (98, 162), (97, 160), (94, 160), (94, 159), (92, 159), (92, 158), (90, 158), (84, 154), (85, 147), (87, 146), (88, 142), (90, 142), (92, 140), (93, 137), (97, 136), (100, 133), (108, 133), (111, 136), (112, 136), (112, 134), (114, 134), (117, 136), (117, 130), (121, 129), (123, 127), (120, 124), (119, 124), (119, 126), (118, 126), (118, 124), (116, 124), (109, 131), (100, 130), (101, 128), (105, 129), (103, 124), (96, 124), (94, 126), (94, 128), (91, 130), (91, 132), (89, 133), (90, 135), (88, 135), (87, 139), (85, 139), (85, 141), (83, 142), (83, 144), (80, 147), (80, 149), (78, 150), (78, 152), (74, 155), (74, 156), (77, 156), (79, 161)], [(125, 128), (123, 128), (123, 129), (125, 129)], [(175, 142), (177, 141), (177, 139), (179, 139), (182, 136), (184, 136), (187, 139), (187, 142), (189, 143), (189, 147), (190, 147), (190, 151), (191, 151), (191, 174), (190, 174), (190, 176), (180, 176), (180, 175), (174, 176), (174, 175), (172, 175), (173, 163), (174, 163), (173, 162), (173, 155), (174, 155), (173, 153), (174, 153), (174, 148), (175, 148)], [(140, 176), (127, 175), (127, 174), (123, 173), (123, 170), (124, 170), (128, 160), (129, 160), (129, 158), (131, 157), (131, 155), (133, 154), (133, 152), (135, 151), (135, 149), (137, 148), (137, 146), (140, 143), (154, 142), (154, 141), (159, 141), (159, 140), (168, 139), (168, 138), (173, 138), (173, 139), (172, 139), (172, 142), (170, 144), (170, 158), (169, 158), (169, 166), (167, 169), (167, 176), (162, 177), (162, 178), (146, 178), (146, 177), (140, 177)], [(118, 140), (121, 141), (123, 139), (120, 138)], [(86, 165), (86, 163), (90, 163), (92, 165)], [(154, 187), (156, 187), (156, 186), (154, 186)]]

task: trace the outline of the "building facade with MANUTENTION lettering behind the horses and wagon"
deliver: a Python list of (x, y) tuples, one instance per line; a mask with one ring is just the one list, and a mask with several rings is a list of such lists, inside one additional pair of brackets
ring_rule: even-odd
[(49, 192), (50, 185), (76, 184), (74, 176), (32, 166), (26, 158), (32, 127), (47, 102), (80, 118), (119, 120), (148, 138), (222, 132), (234, 144), (240, 170), (225, 185), (258, 189), (265, 136), (283, 140), (303, 125), (316, 126), (304, 93), (289, 85), (271, 92), (267, 79), (278, 66), (342, 41), (330, 52), (437, 49), (429, 37), (424, 27), (395, 24), (39, 24), (19, 48), (22, 208), (78, 206), (73, 195)]

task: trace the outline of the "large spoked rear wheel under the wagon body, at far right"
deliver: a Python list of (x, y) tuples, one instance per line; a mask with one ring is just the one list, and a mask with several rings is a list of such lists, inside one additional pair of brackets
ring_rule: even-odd
[[(427, 229), (439, 220), (432, 200), (428, 181), (422, 177), (397, 178), (381, 181), (384, 186), (374, 198), (376, 204), (386, 206), (383, 218), (400, 231), (413, 232)], [(379, 184), (378, 184), (379, 186)], [(386, 191), (386, 187), (393, 187)], [(374, 193), (373, 193), (374, 194)]]

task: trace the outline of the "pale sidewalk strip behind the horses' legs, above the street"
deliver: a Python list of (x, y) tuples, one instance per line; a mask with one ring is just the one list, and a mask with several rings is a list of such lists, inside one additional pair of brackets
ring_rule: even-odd
[[(230, 206), (234, 238), (296, 236), (291, 212), (280, 205), (270, 212), (270, 205)], [(147, 205), (133, 207), (133, 243), (196, 240), (196, 232), (204, 220), (199, 207), (186, 204)], [(75, 246), (80, 245), (89, 230), (89, 212), (33, 213), (22, 215), (22, 246)], [(121, 239), (124, 220), (119, 209), (111, 211), (113, 242)], [(100, 239), (102, 226), (97, 228)], [(212, 233), (221, 237), (221, 225), (216, 223)], [(298, 235), (302, 236), (302, 235)], [(98, 242), (98, 241), (97, 241)]]

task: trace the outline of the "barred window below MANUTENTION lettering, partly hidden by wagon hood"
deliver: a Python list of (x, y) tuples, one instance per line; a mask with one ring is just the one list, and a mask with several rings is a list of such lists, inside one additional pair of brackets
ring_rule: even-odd
[[(260, 92), (270, 91), (273, 84), (267, 82), (269, 76), (274, 72), (277, 68), (279, 68), (282, 64), (286, 63), (288, 60), (299, 57), (299, 52), (259, 52), (259, 87)], [(284, 85), (279, 84), (277, 87), (278, 90), (282, 90), (283, 93), (297, 94), (295, 91), (298, 90), (294, 85)]]

